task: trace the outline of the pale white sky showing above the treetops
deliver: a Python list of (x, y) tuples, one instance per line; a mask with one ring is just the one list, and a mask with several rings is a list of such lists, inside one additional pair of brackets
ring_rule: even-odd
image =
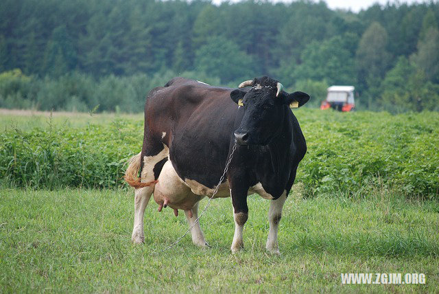
[[(219, 4), (222, 1), (225, 0), (213, 0), (213, 3), (215, 4)], [(230, 0), (230, 2), (238, 2), (239, 0)], [(292, 0), (271, 0), (273, 2), (292, 2)], [(315, 2), (318, 2), (318, 0), (313, 0)], [(350, 1), (346, 1), (346, 0), (324, 0), (328, 7), (331, 9), (344, 9), (344, 10), (351, 10), (353, 12), (359, 12), (361, 9), (366, 9), (370, 6), (372, 6), (375, 3), (379, 3), (381, 5), (385, 5), (386, 3), (390, 2), (390, 3), (422, 3), (422, 2), (429, 2), (428, 0), (399, 0), (399, 1), (395, 1), (395, 0), (350, 0)]]

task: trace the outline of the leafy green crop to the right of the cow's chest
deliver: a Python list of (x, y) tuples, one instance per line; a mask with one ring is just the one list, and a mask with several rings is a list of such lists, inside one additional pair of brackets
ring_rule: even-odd
[(298, 168), (308, 194), (367, 194), (377, 185), (438, 196), (438, 113), (298, 112), (308, 152)]

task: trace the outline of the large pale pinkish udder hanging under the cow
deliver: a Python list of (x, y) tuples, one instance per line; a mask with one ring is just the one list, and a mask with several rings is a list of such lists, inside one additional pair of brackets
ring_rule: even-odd
[(158, 176), (158, 183), (154, 188), (154, 201), (158, 204), (158, 211), (163, 207), (171, 207), (178, 215), (178, 210), (191, 209), (204, 196), (193, 194), (191, 189), (178, 177), (171, 161), (166, 161)]

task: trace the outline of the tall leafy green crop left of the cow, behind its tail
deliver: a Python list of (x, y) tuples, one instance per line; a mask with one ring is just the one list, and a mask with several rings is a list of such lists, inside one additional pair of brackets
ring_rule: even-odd
[(0, 177), (31, 188), (115, 188), (124, 164), (139, 152), (142, 123), (115, 120), (108, 126), (17, 129), (0, 135)]

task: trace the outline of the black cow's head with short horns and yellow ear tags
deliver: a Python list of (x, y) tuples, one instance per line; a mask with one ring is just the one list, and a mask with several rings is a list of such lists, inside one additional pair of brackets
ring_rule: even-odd
[[(251, 87), (248, 91), (241, 90)], [(309, 95), (303, 92), (289, 94), (283, 91), (280, 82), (268, 78), (255, 78), (239, 84), (239, 89), (230, 93), (230, 98), (244, 107), (244, 117), (235, 131), (239, 145), (266, 145), (280, 135), (287, 108), (300, 107), (307, 103)]]

